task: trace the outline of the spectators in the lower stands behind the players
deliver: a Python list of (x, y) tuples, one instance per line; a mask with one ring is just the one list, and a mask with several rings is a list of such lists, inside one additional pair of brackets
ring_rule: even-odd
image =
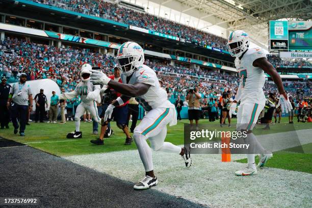
[[(115, 65), (113, 57), (94, 53), (86, 48), (62, 46), (58, 49), (55, 46), (17, 38), (7, 38), (0, 44), (0, 75), (5, 75), (8, 83), (17, 82), (20, 74), (26, 73), (27, 80), (51, 79), (66, 92), (72, 91), (80, 82), (80, 67), (83, 63), (100, 66), (109, 75), (112, 75), (110, 69)], [(238, 88), (238, 77), (226, 72), (209, 71), (199, 67), (192, 69), (178, 64), (171, 66), (165, 62), (148, 59), (145, 64), (158, 73), (172, 102), (177, 97), (185, 101), (189, 89), (198, 87), (201, 94), (200, 106), (205, 108), (211, 106), (212, 101), (219, 104), (224, 92), (229, 91), (231, 96), (235, 97)], [(298, 89), (303, 89), (310, 95), (309, 81), (287, 81), (283, 84), (293, 97), (296, 97)], [(270, 81), (266, 82), (264, 91), (267, 95), (270, 92), (277, 93), (275, 84)], [(79, 103), (79, 97), (67, 100), (67, 108), (73, 109), (71, 114), (74, 114), (74, 109)], [(184, 106), (187, 106), (187, 102), (184, 102)], [(72, 115), (67, 116), (72, 118)]]

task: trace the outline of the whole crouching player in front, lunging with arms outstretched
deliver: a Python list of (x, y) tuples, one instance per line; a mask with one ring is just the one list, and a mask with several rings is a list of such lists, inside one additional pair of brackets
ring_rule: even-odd
[(145, 176), (134, 189), (148, 189), (158, 184), (158, 179), (153, 172), (151, 149), (180, 154), (187, 167), (191, 166), (190, 153), (184, 148), (165, 142), (167, 124), (176, 124), (176, 111), (174, 105), (168, 100), (167, 93), (161, 88), (156, 73), (144, 65), (142, 47), (135, 42), (125, 42), (118, 49), (117, 67), (121, 71), (122, 83), (109, 79), (106, 74), (92, 70), (91, 82), (94, 84), (108, 85), (120, 92), (118, 97), (105, 112), (104, 121), (111, 118), (113, 109), (122, 105), (131, 97), (141, 103), (147, 114), (140, 124), (134, 129), (133, 138), (138, 147), (141, 161), (145, 168)]

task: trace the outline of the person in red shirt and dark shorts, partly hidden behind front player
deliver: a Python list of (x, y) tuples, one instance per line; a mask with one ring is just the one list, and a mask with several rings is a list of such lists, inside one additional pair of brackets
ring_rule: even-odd
[[(115, 80), (119, 83), (122, 83), (122, 81), (120, 79), (120, 71), (119, 71), (118, 67), (114, 68), (114, 75), (109, 76), (109, 78), (112, 80)], [(117, 92), (113, 88), (109, 87), (107, 90), (105, 90), (105, 96), (103, 97), (103, 103), (105, 103), (108, 106), (110, 103), (112, 103), (119, 96), (121, 96), (121, 94), (119, 92)], [(120, 106), (114, 108), (113, 114), (112, 114), (112, 119), (114, 119), (114, 121), (116, 121), (118, 128), (122, 129), (122, 131), (126, 135), (126, 139), (125, 139), (125, 143), (124, 143), (125, 145), (130, 145), (133, 141), (131, 135), (129, 134), (128, 126), (126, 125), (127, 116), (128, 116), (128, 106), (127, 106), (128, 102), (129, 101), (126, 101), (125, 103), (123, 103), (123, 105), (120, 105)], [(105, 113), (106, 109), (105, 110), (102, 109), (102, 110), (103, 110), (102, 112)], [(103, 115), (101, 115), (101, 117), (103, 117)], [(97, 138), (95, 140), (91, 140), (90, 141), (91, 143), (97, 144), (97, 145), (104, 144), (103, 138), (105, 137), (108, 124), (109, 124), (109, 121), (103, 122), (103, 119), (101, 120), (102, 126), (101, 126), (100, 136), (99, 136), (99, 138)]]

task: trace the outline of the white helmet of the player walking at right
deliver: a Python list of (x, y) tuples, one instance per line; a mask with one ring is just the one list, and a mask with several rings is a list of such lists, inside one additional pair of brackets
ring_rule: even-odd
[(249, 47), (249, 36), (242, 30), (233, 31), (226, 46), (232, 57), (240, 57)]

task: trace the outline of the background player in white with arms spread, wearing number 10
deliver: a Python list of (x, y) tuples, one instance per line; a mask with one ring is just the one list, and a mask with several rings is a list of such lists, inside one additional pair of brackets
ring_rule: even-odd
[(72, 99), (77, 95), (81, 97), (81, 103), (77, 106), (75, 113), (75, 132), (67, 134), (67, 138), (82, 138), (82, 132), (80, 132), (80, 117), (88, 110), (94, 121), (100, 122), (100, 118), (97, 113), (96, 99), (100, 100), (100, 87), (93, 85), (90, 82), (92, 67), (90, 64), (83, 64), (81, 67), (80, 77), (81, 82), (77, 84), (76, 88), (72, 92), (62, 93), (60, 99)]

